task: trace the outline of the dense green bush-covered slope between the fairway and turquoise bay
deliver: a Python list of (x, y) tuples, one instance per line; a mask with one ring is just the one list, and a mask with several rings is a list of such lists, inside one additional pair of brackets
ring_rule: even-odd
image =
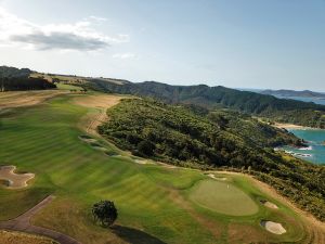
[(134, 155), (256, 175), (325, 220), (325, 168), (274, 152), (280, 144), (301, 144), (285, 130), (226, 110), (208, 112), (154, 100), (123, 100), (108, 114), (99, 132)]

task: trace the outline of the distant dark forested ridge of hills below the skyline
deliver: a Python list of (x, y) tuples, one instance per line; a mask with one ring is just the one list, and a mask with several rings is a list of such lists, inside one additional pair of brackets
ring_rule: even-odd
[(170, 86), (154, 81), (117, 85), (105, 80), (89, 80), (94, 89), (151, 97), (166, 103), (195, 104), (209, 110), (227, 107), (280, 123), (325, 128), (325, 106), (272, 95), (239, 91), (225, 87)]

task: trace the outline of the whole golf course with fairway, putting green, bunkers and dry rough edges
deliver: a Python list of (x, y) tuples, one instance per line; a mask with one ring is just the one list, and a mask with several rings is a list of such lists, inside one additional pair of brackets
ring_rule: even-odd
[[(106, 110), (133, 97), (69, 89), (0, 93), (0, 229), (53, 196), (30, 224), (83, 244), (325, 243), (323, 223), (250, 176), (170, 167), (99, 136)], [(11, 188), (1, 166), (32, 177)], [(101, 200), (118, 209), (109, 229), (91, 214)]]

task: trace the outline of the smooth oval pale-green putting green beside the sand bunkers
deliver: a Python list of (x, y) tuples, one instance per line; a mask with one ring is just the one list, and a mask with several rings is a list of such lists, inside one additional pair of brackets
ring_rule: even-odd
[(231, 183), (216, 180), (198, 182), (193, 188), (190, 198), (210, 210), (231, 216), (253, 215), (259, 209), (245, 192)]

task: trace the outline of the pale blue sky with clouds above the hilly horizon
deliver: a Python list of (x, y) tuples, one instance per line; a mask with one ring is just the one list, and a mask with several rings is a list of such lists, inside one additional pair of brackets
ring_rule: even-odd
[(325, 0), (0, 0), (0, 65), (325, 91)]

